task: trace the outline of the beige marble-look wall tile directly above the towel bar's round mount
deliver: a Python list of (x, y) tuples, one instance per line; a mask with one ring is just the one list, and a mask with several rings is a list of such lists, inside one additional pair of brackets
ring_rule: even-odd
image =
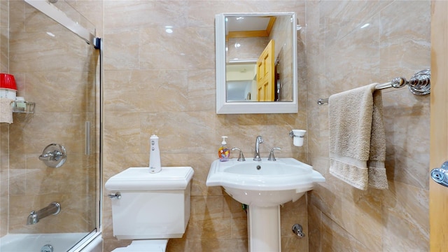
[(417, 71), (430, 69), (430, 15), (409, 15), (416, 11), (430, 13), (430, 1), (393, 1), (379, 12), (380, 78), (409, 79)]

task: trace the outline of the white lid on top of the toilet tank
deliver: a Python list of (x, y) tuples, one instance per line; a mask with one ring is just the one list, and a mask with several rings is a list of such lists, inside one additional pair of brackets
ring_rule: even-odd
[(152, 174), (149, 167), (130, 167), (104, 185), (107, 190), (185, 190), (193, 178), (192, 167), (162, 167)]

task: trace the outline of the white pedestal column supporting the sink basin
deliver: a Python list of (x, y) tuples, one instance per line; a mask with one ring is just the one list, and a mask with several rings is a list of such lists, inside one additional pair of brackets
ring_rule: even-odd
[(248, 207), (248, 251), (281, 251), (280, 206)]

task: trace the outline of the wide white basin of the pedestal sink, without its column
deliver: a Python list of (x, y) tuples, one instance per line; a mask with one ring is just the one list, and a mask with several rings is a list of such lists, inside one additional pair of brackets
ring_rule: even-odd
[(275, 207), (298, 200), (313, 189), (314, 182), (325, 182), (325, 178), (294, 158), (215, 160), (207, 177), (207, 186), (222, 186), (235, 200), (256, 207)]

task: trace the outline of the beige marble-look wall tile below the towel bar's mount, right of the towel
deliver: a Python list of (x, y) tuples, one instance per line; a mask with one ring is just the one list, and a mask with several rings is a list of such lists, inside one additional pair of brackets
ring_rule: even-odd
[(388, 179), (428, 190), (429, 173), (421, 168), (429, 164), (429, 134), (421, 132), (429, 130), (429, 99), (412, 99), (408, 90), (383, 97)]

